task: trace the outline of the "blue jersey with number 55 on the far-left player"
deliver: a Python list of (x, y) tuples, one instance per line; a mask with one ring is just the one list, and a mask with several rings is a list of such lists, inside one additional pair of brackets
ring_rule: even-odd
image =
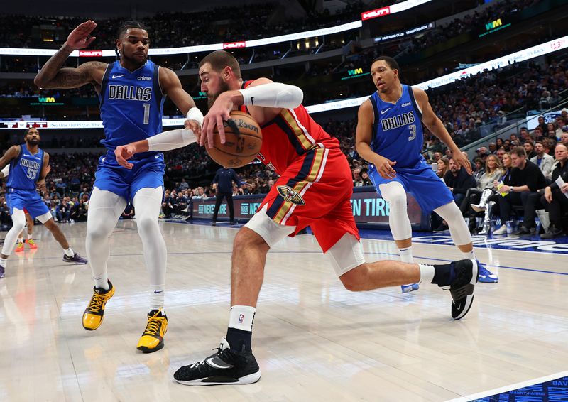
[(10, 161), (10, 175), (6, 187), (35, 191), (35, 183), (40, 178), (42, 168), (43, 150), (38, 148), (38, 153), (34, 155), (28, 151), (26, 143), (21, 144), (18, 158)]

